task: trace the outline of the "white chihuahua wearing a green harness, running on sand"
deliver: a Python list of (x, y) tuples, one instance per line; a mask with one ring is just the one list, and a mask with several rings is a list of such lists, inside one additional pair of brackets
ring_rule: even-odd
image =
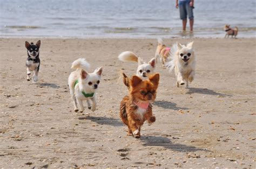
[(79, 111), (84, 111), (83, 100), (86, 100), (88, 109), (95, 111), (96, 90), (102, 77), (102, 67), (97, 68), (93, 73), (87, 73), (90, 64), (84, 58), (80, 58), (73, 61), (71, 68), (77, 69), (69, 75), (70, 95), (73, 99), (75, 111), (78, 111), (77, 103)]

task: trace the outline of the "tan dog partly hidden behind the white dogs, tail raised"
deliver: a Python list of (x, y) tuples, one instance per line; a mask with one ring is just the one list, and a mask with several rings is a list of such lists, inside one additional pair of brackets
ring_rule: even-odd
[(164, 41), (159, 38), (155, 57), (156, 57), (156, 60), (157, 58), (160, 58), (160, 61), (162, 62), (163, 67), (165, 67), (165, 63), (169, 61), (170, 51), (171, 51), (171, 48), (165, 46)]

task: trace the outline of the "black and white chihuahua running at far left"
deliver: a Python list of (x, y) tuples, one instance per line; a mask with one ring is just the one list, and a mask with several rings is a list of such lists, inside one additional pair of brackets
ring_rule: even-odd
[(28, 50), (28, 58), (26, 59), (26, 80), (30, 81), (30, 71), (34, 71), (32, 82), (35, 83), (38, 80), (38, 72), (40, 67), (39, 48), (41, 41), (38, 40), (36, 45), (31, 42), (25, 41), (25, 47)]

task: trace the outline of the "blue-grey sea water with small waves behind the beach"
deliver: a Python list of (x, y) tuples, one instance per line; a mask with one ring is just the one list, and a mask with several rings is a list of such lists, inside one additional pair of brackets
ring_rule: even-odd
[[(0, 0), (0, 37), (255, 37), (255, 0), (194, 0), (194, 33), (181, 33), (176, 0)], [(187, 30), (189, 30), (187, 25)]]

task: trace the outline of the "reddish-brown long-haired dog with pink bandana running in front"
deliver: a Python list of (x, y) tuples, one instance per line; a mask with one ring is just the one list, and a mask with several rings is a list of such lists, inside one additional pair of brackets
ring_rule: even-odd
[(149, 124), (156, 121), (152, 114), (151, 102), (157, 94), (159, 74), (152, 75), (149, 80), (143, 81), (138, 76), (131, 79), (124, 76), (127, 86), (129, 80), (129, 95), (126, 95), (120, 104), (120, 118), (128, 126), (128, 135), (140, 138), (140, 129), (145, 121)]

